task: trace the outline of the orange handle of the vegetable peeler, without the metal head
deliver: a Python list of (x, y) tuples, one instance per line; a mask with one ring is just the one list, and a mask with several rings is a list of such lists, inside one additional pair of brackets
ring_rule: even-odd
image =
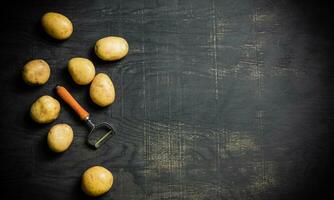
[(89, 117), (89, 113), (80, 106), (66, 88), (58, 85), (56, 91), (58, 95), (79, 115), (81, 120), (86, 120)]

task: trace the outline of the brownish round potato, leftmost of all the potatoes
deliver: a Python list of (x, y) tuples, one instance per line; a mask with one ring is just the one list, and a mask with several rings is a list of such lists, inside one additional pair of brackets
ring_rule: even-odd
[(43, 85), (49, 80), (50, 67), (42, 59), (27, 62), (22, 71), (22, 78), (28, 85)]

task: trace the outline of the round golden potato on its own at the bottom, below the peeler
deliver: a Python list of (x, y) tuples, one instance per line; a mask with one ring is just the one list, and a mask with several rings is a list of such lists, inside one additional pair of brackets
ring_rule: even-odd
[(91, 167), (82, 175), (81, 188), (89, 196), (97, 197), (108, 192), (112, 184), (112, 173), (101, 166)]

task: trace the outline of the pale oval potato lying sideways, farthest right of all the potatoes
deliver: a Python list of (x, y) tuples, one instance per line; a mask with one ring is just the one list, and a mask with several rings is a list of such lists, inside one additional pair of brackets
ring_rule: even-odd
[(127, 41), (121, 37), (109, 36), (98, 40), (95, 44), (95, 54), (105, 61), (119, 60), (129, 51)]

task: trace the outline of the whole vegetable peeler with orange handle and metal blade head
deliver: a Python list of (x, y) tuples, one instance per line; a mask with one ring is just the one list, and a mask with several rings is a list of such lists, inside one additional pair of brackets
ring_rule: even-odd
[[(80, 119), (88, 125), (90, 133), (88, 134), (87, 142), (89, 145), (97, 149), (116, 133), (115, 128), (110, 123), (94, 124), (89, 118), (89, 113), (80, 106), (66, 88), (58, 85), (56, 86), (56, 92), (79, 115)], [(101, 134), (100, 132), (103, 133)]]

